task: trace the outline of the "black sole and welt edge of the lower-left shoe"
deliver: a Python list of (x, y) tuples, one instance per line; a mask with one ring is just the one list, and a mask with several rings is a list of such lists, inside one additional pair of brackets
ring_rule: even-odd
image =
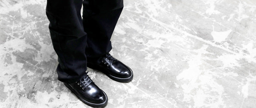
[(107, 105), (107, 95), (104, 91), (102, 91), (104, 93), (104, 95), (106, 96), (106, 101), (103, 103), (91, 103), (91, 102), (87, 102), (86, 100), (84, 100), (80, 95), (78, 95), (77, 91), (73, 89), (73, 87), (71, 87), (69, 84), (64, 83), (64, 85), (70, 90), (72, 91), (82, 102), (84, 102), (86, 105), (92, 106), (92, 107), (102, 107), (102, 106), (106, 106)]

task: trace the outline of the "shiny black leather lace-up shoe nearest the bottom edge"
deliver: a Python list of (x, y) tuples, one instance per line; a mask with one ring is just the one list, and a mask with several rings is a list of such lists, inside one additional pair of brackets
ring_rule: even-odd
[(69, 88), (82, 102), (92, 107), (107, 105), (107, 95), (87, 75), (88, 72), (76, 83), (67, 84)]

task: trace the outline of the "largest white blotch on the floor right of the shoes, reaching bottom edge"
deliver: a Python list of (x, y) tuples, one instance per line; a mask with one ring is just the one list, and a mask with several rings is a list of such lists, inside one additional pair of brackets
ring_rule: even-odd
[[(184, 102), (194, 102), (195, 108), (209, 107), (216, 108), (225, 106), (221, 95), (224, 93), (222, 85), (214, 80), (217, 73), (212, 71), (204, 71), (202, 65), (202, 54), (208, 54), (206, 51), (207, 45), (193, 52), (198, 52), (197, 55), (192, 55), (188, 58), (188, 68), (180, 73), (176, 79), (183, 82), (181, 85), (184, 97)], [(217, 96), (216, 96), (217, 94)]]

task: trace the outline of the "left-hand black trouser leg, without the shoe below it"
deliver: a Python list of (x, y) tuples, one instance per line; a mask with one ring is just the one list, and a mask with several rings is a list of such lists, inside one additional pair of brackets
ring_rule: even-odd
[(78, 81), (85, 73), (87, 34), (81, 17), (82, 0), (48, 0), (46, 15), (50, 21), (52, 44), (58, 55), (58, 79)]

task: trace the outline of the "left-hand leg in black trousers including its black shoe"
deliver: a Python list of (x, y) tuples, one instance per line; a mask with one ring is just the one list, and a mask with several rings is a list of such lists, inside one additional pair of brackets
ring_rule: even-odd
[(59, 61), (58, 79), (85, 104), (101, 107), (107, 104), (107, 95), (85, 73), (87, 34), (81, 7), (82, 0), (47, 0), (49, 30)]

